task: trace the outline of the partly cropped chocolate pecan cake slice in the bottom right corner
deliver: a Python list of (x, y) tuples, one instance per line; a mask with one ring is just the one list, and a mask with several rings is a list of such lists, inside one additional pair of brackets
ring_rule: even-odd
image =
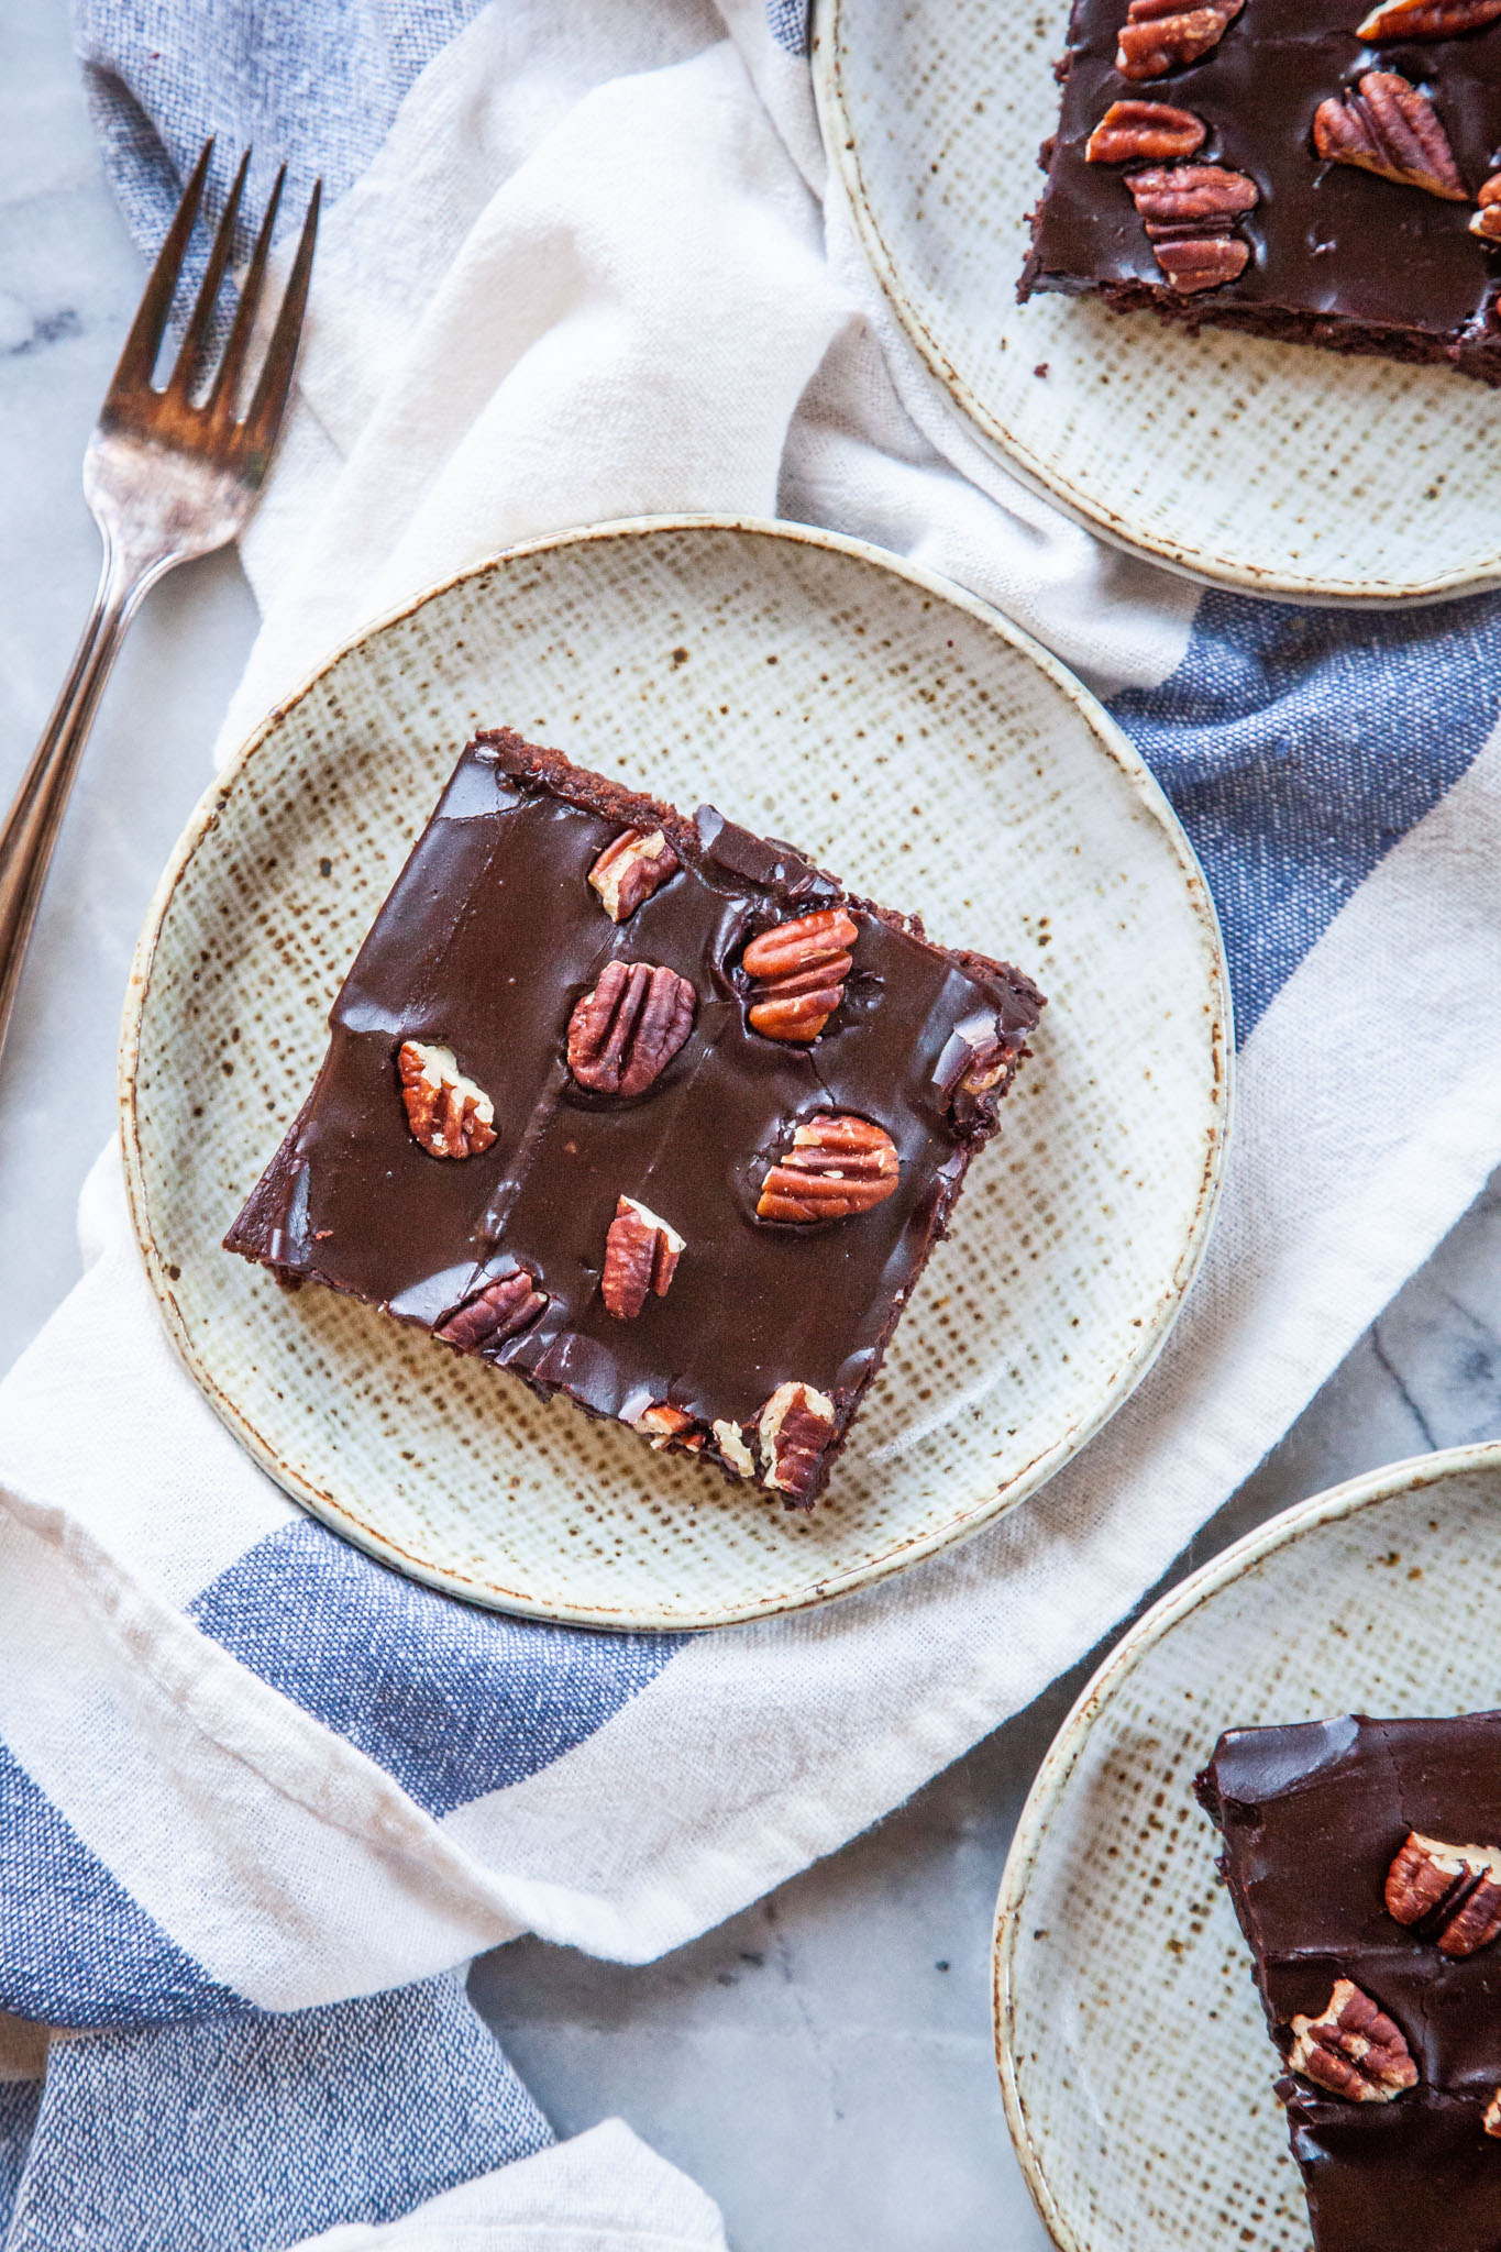
[(1231, 1730), (1197, 1793), (1316, 2252), (1496, 2252), (1501, 1712)]

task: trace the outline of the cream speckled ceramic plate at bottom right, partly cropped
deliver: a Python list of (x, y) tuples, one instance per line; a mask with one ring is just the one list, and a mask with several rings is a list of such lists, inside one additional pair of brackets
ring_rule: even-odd
[(1276, 2052), (1193, 1777), (1226, 1727), (1496, 1705), (1501, 1446), (1287, 1509), (1069, 1714), (995, 1919), (1006, 2117), (1064, 2252), (1305, 2252)]

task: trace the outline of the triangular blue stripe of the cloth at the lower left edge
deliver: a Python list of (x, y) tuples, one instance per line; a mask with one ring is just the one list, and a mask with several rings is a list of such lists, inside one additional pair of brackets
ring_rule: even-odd
[(140, 2025), (250, 2009), (131, 1898), (0, 1743), (0, 2009)]

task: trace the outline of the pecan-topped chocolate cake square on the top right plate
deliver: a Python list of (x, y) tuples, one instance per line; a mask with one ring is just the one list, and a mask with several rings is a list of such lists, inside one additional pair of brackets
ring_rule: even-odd
[(1076, 0), (1019, 295), (1501, 383), (1501, 0)]

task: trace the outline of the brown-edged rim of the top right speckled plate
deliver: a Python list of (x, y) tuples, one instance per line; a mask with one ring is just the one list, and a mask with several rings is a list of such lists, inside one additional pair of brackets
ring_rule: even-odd
[[(1073, 491), (1067, 477), (1051, 473), (1044, 464), (1040, 464), (1033, 450), (1024, 446), (1024, 441), (1010, 432), (992, 410), (986, 408), (974, 387), (959, 374), (900, 284), (896, 257), (887, 245), (864, 185), (864, 173), (860, 169), (860, 140), (844, 99), (844, 56), (848, 52), (844, 34), (851, 5), (853, 0), (815, 0), (808, 43), (819, 131), (824, 137), (830, 180), (837, 182), (837, 191), (844, 196), (844, 205), (855, 225), (866, 263), (887, 304), (891, 306), (902, 336), (923, 363), (925, 381), (934, 385), (950, 412), (956, 412), (963, 419), (965, 430), (979, 439), (986, 453), (999, 462), (1001, 468), (1017, 477), (1031, 493), (1037, 493), (1042, 500), (1062, 509), (1062, 513), (1071, 522), (1082, 525), (1085, 531), (1098, 534), (1125, 554), (1145, 556), (1161, 570), (1193, 581), (1193, 586), (1235, 588), (1235, 592), (1262, 595), (1269, 601), (1296, 601), (1339, 610), (1411, 610), (1438, 601), (1451, 601), (1458, 595), (1483, 595), (1501, 586), (1501, 547), (1487, 561), (1469, 563), (1451, 572), (1436, 572), (1427, 579), (1413, 579), (1409, 583), (1321, 579), (1310, 572), (1271, 570), (1249, 561), (1231, 563), (1222, 556), (1204, 554), (1204, 549), (1188, 549), (1166, 536), (1152, 534), (1150, 529), (1127, 527), (1118, 511), (1103, 502), (1091, 502), (1082, 493)], [(1062, 0), (1051, 0), (1051, 5), (1062, 5)], [(1163, 349), (1170, 349), (1172, 338), (1163, 336), (1161, 342)]]

